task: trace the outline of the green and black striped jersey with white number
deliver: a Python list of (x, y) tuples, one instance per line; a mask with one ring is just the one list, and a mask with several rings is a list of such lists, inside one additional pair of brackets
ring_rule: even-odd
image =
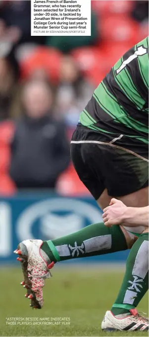
[(80, 115), (92, 130), (123, 134), (148, 144), (149, 38), (114, 65)]

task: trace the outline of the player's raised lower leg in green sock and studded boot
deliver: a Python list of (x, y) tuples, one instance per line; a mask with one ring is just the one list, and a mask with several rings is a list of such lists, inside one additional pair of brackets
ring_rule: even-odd
[(109, 228), (104, 223), (97, 223), (55, 240), (25, 240), (14, 253), (19, 255), (17, 259), (22, 264), (26, 297), (31, 299), (31, 306), (40, 309), (44, 304), (42, 288), (45, 278), (50, 276), (54, 263), (127, 249), (119, 226)]

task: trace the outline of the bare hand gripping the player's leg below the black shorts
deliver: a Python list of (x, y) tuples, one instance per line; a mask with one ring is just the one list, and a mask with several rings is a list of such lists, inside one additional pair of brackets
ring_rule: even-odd
[(104, 225), (111, 227), (112, 225), (120, 225), (123, 223), (126, 209), (127, 206), (125, 206), (122, 201), (112, 198), (110, 206), (103, 209), (102, 218)]

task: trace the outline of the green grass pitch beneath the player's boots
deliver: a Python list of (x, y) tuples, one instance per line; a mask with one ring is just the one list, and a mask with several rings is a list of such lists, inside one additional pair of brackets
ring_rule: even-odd
[[(21, 268), (0, 269), (0, 336), (148, 336), (147, 332), (104, 333), (101, 321), (106, 310), (111, 308), (118, 293), (124, 269), (104, 268), (101, 264), (90, 266), (66, 266), (57, 264), (52, 269), (53, 277), (44, 288), (45, 305), (42, 310), (32, 310), (30, 300), (24, 297), (20, 285)], [(139, 311), (148, 314), (148, 294), (139, 305)], [(55, 318), (70, 318), (65, 325), (46, 325)], [(10, 318), (22, 322), (44, 322), (42, 325), (6, 324)], [(37, 321), (29, 321), (31, 318)], [(53, 320), (53, 321), (52, 321)], [(13, 321), (21, 322), (21, 321)]]

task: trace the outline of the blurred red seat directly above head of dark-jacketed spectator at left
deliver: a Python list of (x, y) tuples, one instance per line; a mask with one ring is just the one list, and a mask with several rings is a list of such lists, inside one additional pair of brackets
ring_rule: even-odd
[(61, 52), (54, 48), (37, 47), (35, 51), (20, 63), (21, 77), (30, 77), (35, 70), (43, 69), (52, 82), (57, 82)]

